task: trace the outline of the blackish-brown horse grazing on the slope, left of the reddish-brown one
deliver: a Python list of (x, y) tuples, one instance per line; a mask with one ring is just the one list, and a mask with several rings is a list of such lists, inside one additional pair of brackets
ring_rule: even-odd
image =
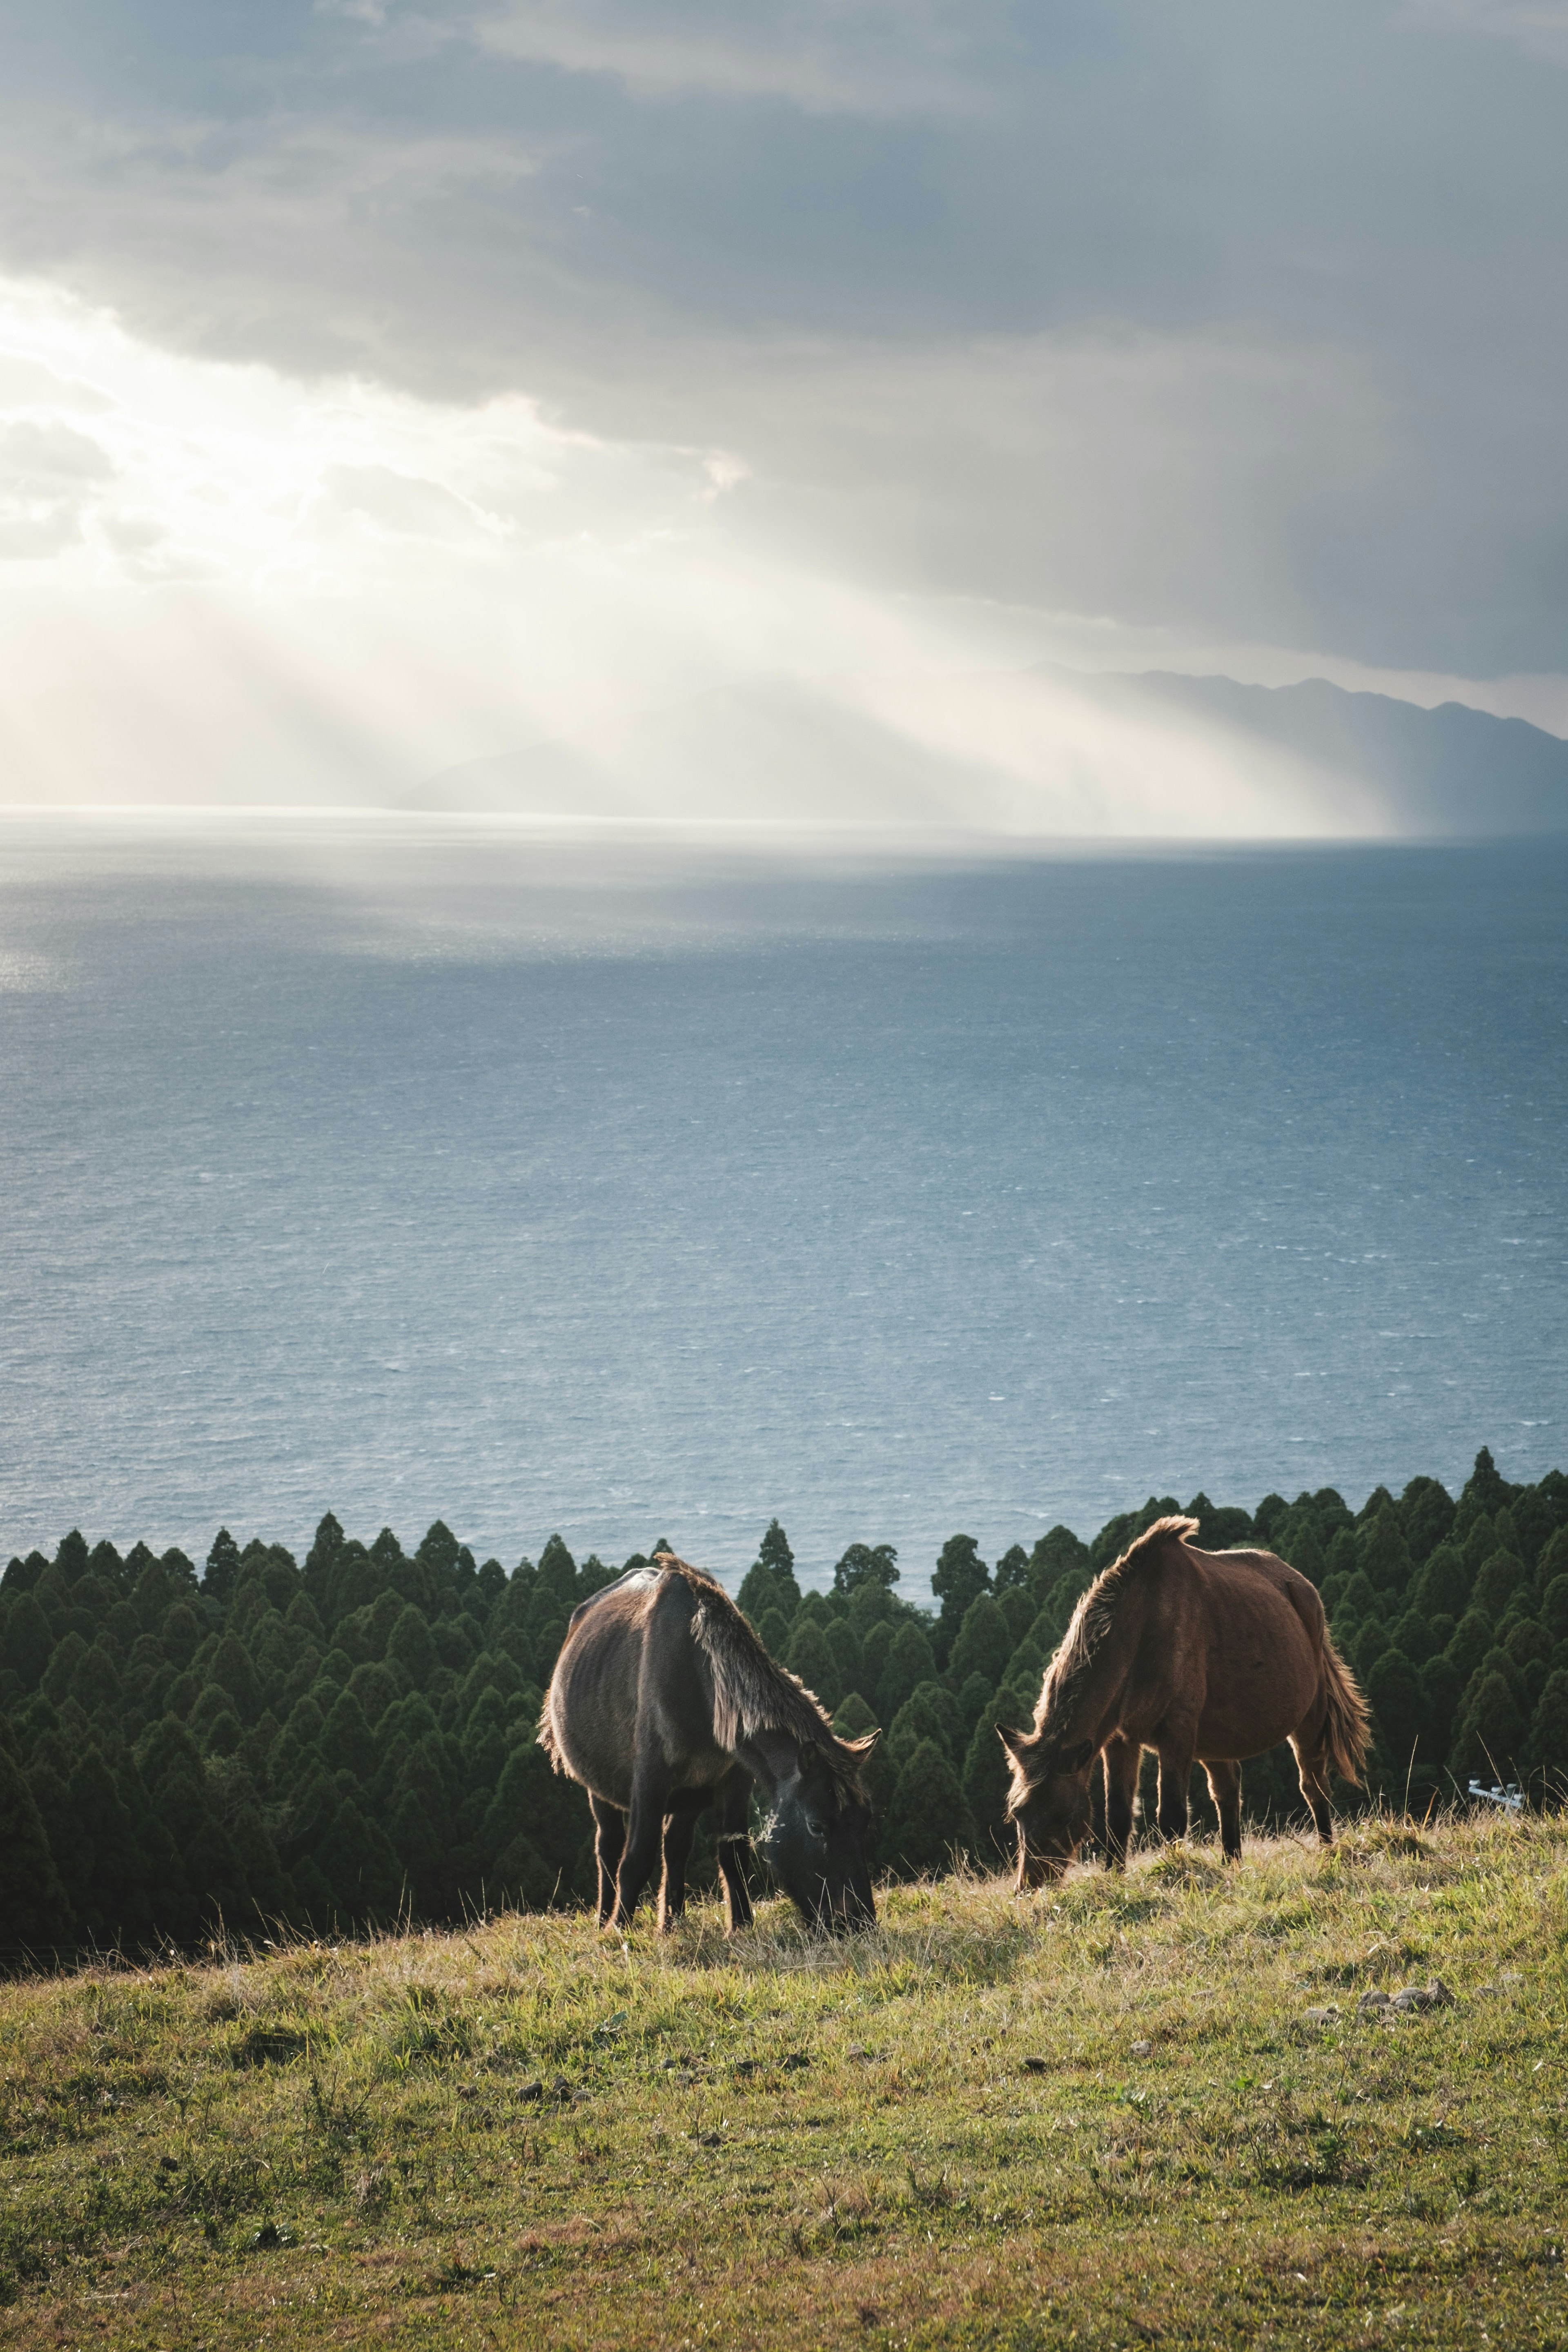
[(748, 1926), (748, 1799), (769, 1870), (809, 1926), (875, 1919), (860, 1762), (877, 1733), (835, 1738), (823, 1708), (769, 1658), (729, 1592), (661, 1552), (574, 1611), (538, 1743), (588, 1790), (599, 1924), (625, 1926), (663, 1849), (658, 1926), (686, 1905), (698, 1813), (719, 1809), (729, 1931)]

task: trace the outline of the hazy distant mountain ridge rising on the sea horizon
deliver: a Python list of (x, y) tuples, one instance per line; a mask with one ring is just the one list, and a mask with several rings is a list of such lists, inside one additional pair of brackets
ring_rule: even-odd
[(1248, 687), (1039, 663), (757, 680), (444, 769), (407, 809), (588, 821), (936, 826), (1011, 837), (1568, 830), (1568, 743), (1324, 677)]

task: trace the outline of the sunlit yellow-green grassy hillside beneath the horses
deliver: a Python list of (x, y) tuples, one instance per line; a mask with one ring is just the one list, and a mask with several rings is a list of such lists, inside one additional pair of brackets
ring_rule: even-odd
[(1361, 1823), (842, 1945), (769, 1903), (9, 1983), (0, 2347), (1561, 2345), (1566, 1860)]

